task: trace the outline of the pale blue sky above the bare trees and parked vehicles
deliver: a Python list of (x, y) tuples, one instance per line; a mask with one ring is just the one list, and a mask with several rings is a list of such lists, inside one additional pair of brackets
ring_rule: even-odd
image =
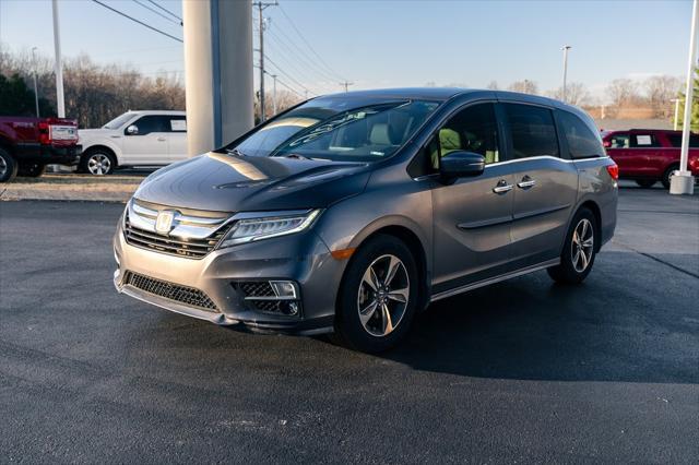
[[(102, 1), (182, 36), (176, 21), (135, 1)], [(167, 16), (149, 0), (139, 1)], [(181, 16), (179, 0), (156, 2)], [(490, 81), (507, 87), (529, 79), (547, 91), (560, 85), (560, 47), (568, 44), (569, 81), (602, 95), (616, 78), (684, 74), (691, 16), (689, 0), (280, 3), (264, 12), (271, 19), (266, 55), (288, 76), (287, 84), (313, 93), (336, 92), (343, 79), (355, 83), (352, 88), (428, 82), (485, 87)], [(84, 52), (149, 75), (183, 74), (180, 43), (92, 0), (61, 0), (60, 21), (67, 57)], [(52, 56), (51, 24), (49, 0), (0, 0), (0, 41), (12, 50), (36, 46)], [(270, 71), (276, 70), (270, 64)]]

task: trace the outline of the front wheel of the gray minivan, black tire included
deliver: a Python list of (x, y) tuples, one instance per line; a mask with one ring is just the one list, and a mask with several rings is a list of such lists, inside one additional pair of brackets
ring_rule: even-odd
[[(383, 279), (389, 269), (394, 272), (387, 284)], [(415, 315), (420, 288), (417, 279), (415, 258), (403, 241), (388, 235), (369, 239), (345, 270), (332, 341), (369, 354), (394, 347), (407, 334)]]

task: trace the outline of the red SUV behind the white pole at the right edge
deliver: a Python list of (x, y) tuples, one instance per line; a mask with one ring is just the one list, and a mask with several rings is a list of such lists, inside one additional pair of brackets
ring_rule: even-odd
[[(642, 188), (661, 181), (670, 189), (673, 171), (679, 169), (680, 131), (630, 129), (603, 131), (607, 154), (619, 166), (619, 178), (632, 179)], [(699, 176), (699, 134), (689, 138), (689, 166)]]

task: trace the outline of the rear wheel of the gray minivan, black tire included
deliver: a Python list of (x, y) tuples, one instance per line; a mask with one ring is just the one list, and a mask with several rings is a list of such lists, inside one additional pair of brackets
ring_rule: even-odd
[(588, 277), (594, 265), (600, 240), (597, 231), (597, 218), (594, 214), (589, 208), (580, 208), (566, 234), (560, 264), (547, 270), (556, 283), (580, 284)]

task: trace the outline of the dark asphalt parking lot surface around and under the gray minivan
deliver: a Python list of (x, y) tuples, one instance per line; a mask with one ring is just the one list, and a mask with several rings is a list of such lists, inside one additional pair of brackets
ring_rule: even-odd
[(117, 295), (123, 205), (0, 202), (0, 462), (699, 456), (699, 196), (625, 189), (588, 281), (440, 301), (381, 356)]

